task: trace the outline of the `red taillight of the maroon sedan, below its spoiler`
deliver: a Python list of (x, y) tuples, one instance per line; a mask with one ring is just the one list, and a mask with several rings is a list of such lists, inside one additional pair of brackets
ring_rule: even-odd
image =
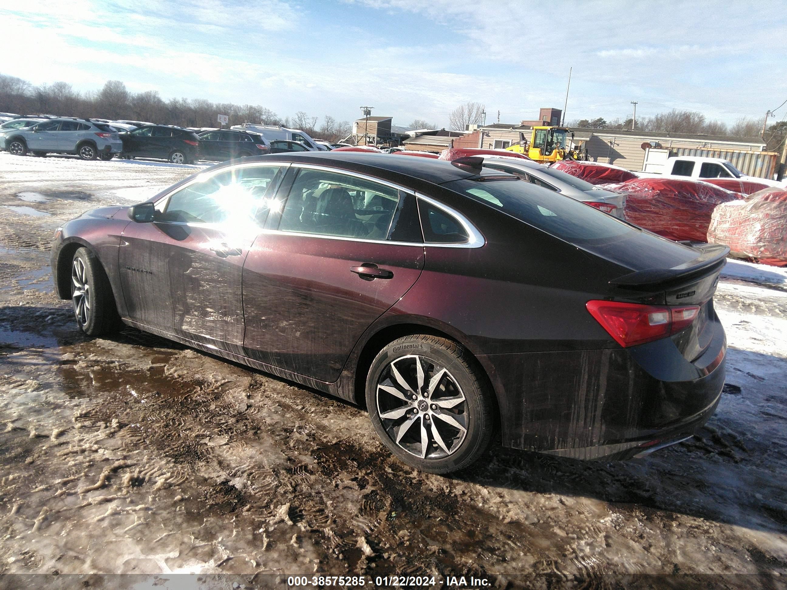
[(700, 313), (698, 305), (673, 307), (598, 300), (588, 301), (586, 308), (623, 348), (675, 334)]

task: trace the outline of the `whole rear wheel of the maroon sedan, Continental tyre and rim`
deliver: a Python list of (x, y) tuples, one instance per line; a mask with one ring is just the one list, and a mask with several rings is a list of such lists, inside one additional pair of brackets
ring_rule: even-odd
[(379, 437), (416, 469), (461, 470), (489, 448), (490, 387), (470, 353), (445, 338), (416, 334), (382, 348), (369, 368), (366, 402)]

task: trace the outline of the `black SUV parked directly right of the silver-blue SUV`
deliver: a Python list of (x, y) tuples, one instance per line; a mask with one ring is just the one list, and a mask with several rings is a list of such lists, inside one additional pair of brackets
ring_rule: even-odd
[(199, 157), (199, 137), (194, 131), (172, 125), (143, 125), (120, 133), (122, 158), (161, 158), (172, 164), (194, 164)]

